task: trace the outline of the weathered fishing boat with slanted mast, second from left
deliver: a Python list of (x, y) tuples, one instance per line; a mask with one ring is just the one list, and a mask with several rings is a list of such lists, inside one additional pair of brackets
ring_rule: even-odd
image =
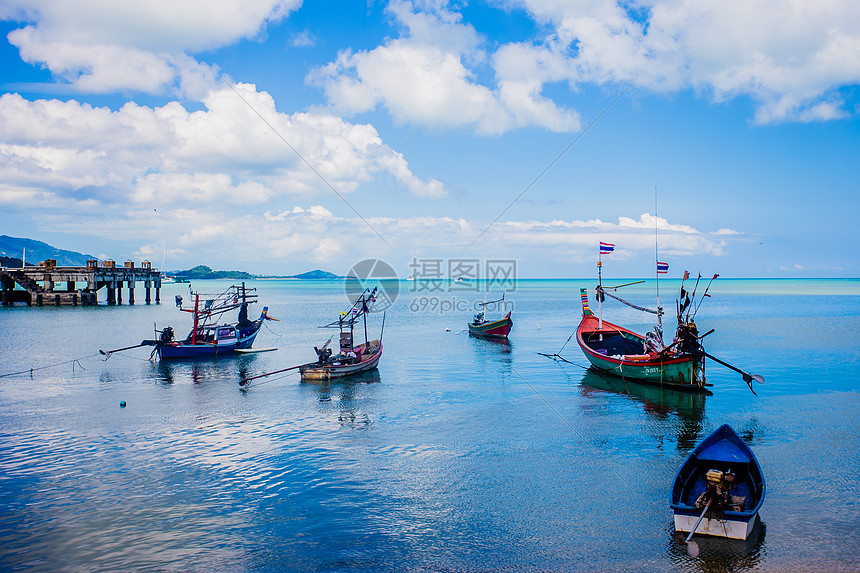
[[(360, 372), (368, 372), (379, 365), (382, 358), (382, 333), (377, 340), (367, 338), (367, 315), (370, 306), (376, 302), (376, 291), (365, 289), (353, 303), (352, 308), (341, 312), (338, 320), (321, 328), (337, 328), (340, 332), (340, 348), (334, 354), (329, 344), (334, 335), (329, 337), (322, 348), (314, 347), (317, 361), (298, 366), (302, 380), (332, 380), (351, 376)], [(354, 344), (353, 334), (355, 324), (362, 319), (364, 322), (364, 342)], [(385, 329), (385, 315), (382, 317), (382, 329)]]

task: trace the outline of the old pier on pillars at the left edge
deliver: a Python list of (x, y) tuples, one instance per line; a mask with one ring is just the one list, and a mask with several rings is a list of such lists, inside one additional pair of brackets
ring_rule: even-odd
[[(128, 304), (134, 304), (134, 289), (140, 283), (144, 301), (161, 302), (161, 273), (148, 261), (136, 267), (133, 261), (117, 267), (114, 261), (87, 261), (86, 267), (58, 267), (54, 260), (39, 263), (37, 267), (23, 269), (0, 268), (0, 292), (4, 306), (23, 302), (27, 305), (81, 305), (98, 304), (98, 291), (107, 289), (108, 304), (122, 304), (122, 289), (128, 290)], [(21, 288), (16, 289), (15, 285)], [(22, 290), (23, 289), (23, 290)]]

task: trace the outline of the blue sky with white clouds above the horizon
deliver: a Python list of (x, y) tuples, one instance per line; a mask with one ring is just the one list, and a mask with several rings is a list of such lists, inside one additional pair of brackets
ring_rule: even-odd
[(2, 234), (167, 269), (558, 278), (592, 276), (602, 240), (608, 274), (653, 276), (656, 189), (670, 277), (860, 276), (856, 2), (0, 0), (0, 19)]

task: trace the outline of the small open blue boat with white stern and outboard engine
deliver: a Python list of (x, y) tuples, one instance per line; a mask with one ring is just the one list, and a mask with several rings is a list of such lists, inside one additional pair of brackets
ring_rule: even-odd
[(725, 424), (687, 456), (672, 483), (675, 531), (747, 539), (765, 496), (752, 450)]

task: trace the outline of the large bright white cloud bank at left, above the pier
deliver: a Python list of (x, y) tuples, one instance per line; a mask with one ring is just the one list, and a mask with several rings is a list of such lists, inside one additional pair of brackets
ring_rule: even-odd
[(279, 113), (253, 85), (235, 90), (209, 92), (205, 109), (194, 112), (176, 102), (129, 102), (111, 111), (5, 94), (0, 178), (10, 187), (103, 204), (260, 203), (328, 195), (328, 185), (348, 194), (382, 176), (417, 196), (446, 193), (439, 181), (416, 177), (372, 126)]

